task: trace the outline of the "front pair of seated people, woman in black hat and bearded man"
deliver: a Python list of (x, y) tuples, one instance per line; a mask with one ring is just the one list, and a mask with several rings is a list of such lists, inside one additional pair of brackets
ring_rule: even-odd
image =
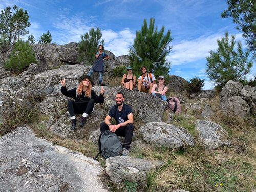
[[(79, 126), (82, 127), (87, 116), (93, 112), (94, 103), (104, 102), (104, 88), (101, 87), (99, 95), (96, 95), (92, 90), (93, 80), (89, 75), (82, 75), (79, 78), (79, 85), (77, 88), (67, 90), (66, 79), (61, 80), (61, 93), (67, 97), (73, 98), (68, 100), (68, 111), (71, 119), (71, 130), (76, 129), (76, 116), (75, 114), (82, 114)], [(103, 123), (100, 124), (100, 131), (103, 133), (105, 130), (110, 130), (118, 136), (125, 137), (123, 147), (123, 156), (129, 154), (129, 148), (133, 137), (133, 111), (132, 108), (123, 103), (124, 95), (118, 92), (115, 96), (116, 105), (112, 106), (108, 115)], [(111, 118), (116, 120), (116, 124), (110, 122)]]

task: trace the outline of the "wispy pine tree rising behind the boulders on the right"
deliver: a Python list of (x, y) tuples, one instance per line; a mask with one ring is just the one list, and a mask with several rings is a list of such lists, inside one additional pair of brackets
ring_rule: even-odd
[(225, 37), (218, 39), (217, 43), (217, 51), (210, 50), (210, 56), (206, 58), (206, 76), (215, 82), (218, 90), (221, 90), (229, 80), (238, 81), (250, 73), (253, 62), (247, 61), (249, 51), (243, 52), (241, 41), (237, 42), (237, 51), (234, 50), (236, 46), (234, 35), (231, 35), (229, 41), (226, 32)]

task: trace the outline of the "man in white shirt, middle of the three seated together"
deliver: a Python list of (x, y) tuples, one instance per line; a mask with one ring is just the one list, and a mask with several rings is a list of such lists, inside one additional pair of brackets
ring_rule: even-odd
[(156, 78), (152, 73), (146, 72), (146, 66), (140, 68), (142, 75), (138, 78), (138, 90), (151, 94), (153, 84), (156, 84)]

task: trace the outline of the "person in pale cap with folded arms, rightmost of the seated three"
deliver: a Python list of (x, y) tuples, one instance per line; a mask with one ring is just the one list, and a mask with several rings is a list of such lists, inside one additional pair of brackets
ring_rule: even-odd
[(160, 75), (158, 77), (158, 83), (154, 84), (152, 87), (151, 94), (166, 101), (167, 90), (168, 90), (168, 87), (164, 85), (164, 76)]

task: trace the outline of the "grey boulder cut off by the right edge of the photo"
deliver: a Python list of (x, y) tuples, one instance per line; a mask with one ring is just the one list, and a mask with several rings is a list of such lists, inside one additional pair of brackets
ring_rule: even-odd
[(241, 97), (249, 104), (251, 114), (256, 115), (256, 87), (244, 86), (241, 90)]

